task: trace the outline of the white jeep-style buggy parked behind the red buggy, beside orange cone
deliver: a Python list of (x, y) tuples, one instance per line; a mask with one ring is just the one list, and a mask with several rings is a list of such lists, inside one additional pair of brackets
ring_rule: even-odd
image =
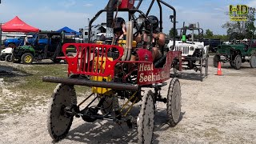
[[(206, 78), (208, 75), (209, 46), (206, 46), (204, 42), (196, 41), (193, 37), (194, 31), (198, 31), (198, 35), (201, 35), (202, 37), (203, 30), (199, 27), (199, 24), (190, 24), (190, 26), (185, 26), (185, 22), (183, 22), (183, 27), (179, 30), (181, 30), (180, 38), (182, 39), (175, 41), (174, 50), (182, 51), (182, 69), (200, 71), (202, 79)], [(187, 30), (192, 32), (190, 35), (191, 37), (189, 34), (186, 34)], [(170, 40), (167, 46), (171, 48), (173, 43), (174, 41)], [(178, 64), (176, 63), (175, 66), (178, 66)], [(174, 74), (176, 73), (175, 66)], [(205, 74), (203, 74), (203, 72)]]

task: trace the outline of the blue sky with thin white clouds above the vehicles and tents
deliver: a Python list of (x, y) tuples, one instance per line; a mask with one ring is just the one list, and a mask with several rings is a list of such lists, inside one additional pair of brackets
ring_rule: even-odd
[[(150, 0), (143, 0), (142, 10), (149, 6)], [(229, 21), (225, 14), (230, 4), (245, 4), (256, 8), (256, 0), (164, 0), (177, 10), (178, 27), (182, 22), (199, 22), (214, 34), (226, 34), (222, 24)], [(18, 16), (31, 26), (40, 30), (58, 30), (63, 26), (78, 30), (88, 25), (87, 18), (93, 18), (98, 10), (106, 6), (107, 0), (2, 0), (0, 22), (7, 22)], [(164, 8), (164, 32), (170, 30), (170, 10)], [(151, 14), (158, 14), (156, 6)], [(98, 23), (105, 21), (105, 15)]]

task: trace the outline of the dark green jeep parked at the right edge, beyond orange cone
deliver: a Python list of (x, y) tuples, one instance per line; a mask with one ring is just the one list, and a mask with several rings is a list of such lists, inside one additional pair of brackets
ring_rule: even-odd
[(214, 55), (214, 67), (218, 62), (230, 62), (230, 66), (239, 70), (243, 62), (250, 62), (250, 67), (256, 67), (256, 46), (253, 41), (237, 41), (226, 45), (219, 45)]

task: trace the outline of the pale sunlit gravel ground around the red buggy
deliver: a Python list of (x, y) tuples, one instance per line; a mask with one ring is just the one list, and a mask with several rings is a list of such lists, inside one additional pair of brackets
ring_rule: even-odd
[[(248, 63), (242, 64), (241, 70), (225, 64), (223, 76), (217, 76), (217, 69), (209, 63), (210, 75), (203, 82), (192, 70), (182, 72), (182, 118), (177, 126), (167, 126), (166, 105), (158, 103), (154, 143), (256, 142), (256, 69), (250, 69)], [(2, 85), (1, 97), (14, 97), (5, 87)], [(162, 95), (166, 93), (167, 87)], [(46, 126), (47, 106), (27, 106), (24, 111), (0, 114), (0, 143), (51, 143)], [(74, 118), (67, 138), (58, 143), (134, 143), (136, 136), (136, 129), (126, 125), (121, 128), (114, 122), (86, 123), (82, 118)]]

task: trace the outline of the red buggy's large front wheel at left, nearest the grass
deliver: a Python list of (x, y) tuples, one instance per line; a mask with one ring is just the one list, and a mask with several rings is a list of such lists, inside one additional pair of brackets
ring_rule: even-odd
[(69, 132), (74, 116), (66, 114), (65, 110), (68, 106), (74, 105), (74, 101), (76, 104), (74, 86), (64, 84), (56, 86), (50, 99), (47, 116), (48, 132), (54, 141), (66, 138), (66, 134)]

